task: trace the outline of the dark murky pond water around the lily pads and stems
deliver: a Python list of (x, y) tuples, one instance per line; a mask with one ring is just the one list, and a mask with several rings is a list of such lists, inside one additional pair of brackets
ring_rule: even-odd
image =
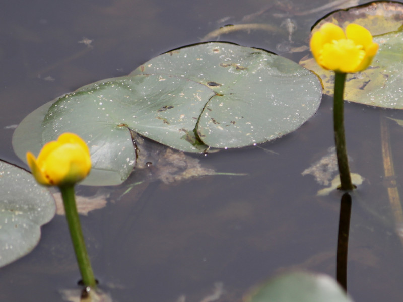
[[(287, 51), (307, 44), (310, 27), (333, 10), (318, 8), (333, 2), (8, 2), (0, 13), (0, 158), (26, 167), (11, 147), (13, 125), (45, 102), (126, 75), (228, 23), (277, 26), (274, 33), (244, 31), (220, 40), (299, 61), (307, 51)], [(284, 33), (288, 21), (297, 25), (291, 36)], [(403, 249), (383, 179), (380, 122), (403, 114), (353, 103), (345, 110), (352, 172), (365, 178), (360, 199), (353, 199), (349, 292), (356, 301), (401, 301)], [(116, 301), (207, 302), (222, 286), (217, 301), (238, 301), (253, 285), (284, 271), (334, 277), (341, 195), (317, 197), (323, 186), (301, 174), (333, 145), (331, 113), (331, 98), (324, 96), (318, 113), (281, 139), (190, 156), (217, 172), (247, 176), (145, 182), (124, 195), (127, 184), (80, 187), (81, 195), (109, 196), (105, 208), (82, 217), (101, 287)], [(388, 126), (400, 183), (403, 129)], [(128, 183), (141, 177), (133, 175)], [(56, 216), (31, 254), (0, 269), (0, 300), (58, 301), (59, 290), (75, 288), (79, 275), (64, 220)]]

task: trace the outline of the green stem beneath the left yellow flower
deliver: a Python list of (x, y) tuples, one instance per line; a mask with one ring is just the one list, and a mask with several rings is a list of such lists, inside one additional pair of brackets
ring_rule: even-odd
[(69, 225), (70, 236), (72, 237), (74, 252), (76, 253), (81, 277), (85, 286), (96, 287), (94, 273), (92, 271), (90, 258), (85, 246), (83, 232), (81, 231), (80, 218), (77, 212), (74, 196), (74, 185), (59, 187), (63, 197), (64, 210), (67, 224)]

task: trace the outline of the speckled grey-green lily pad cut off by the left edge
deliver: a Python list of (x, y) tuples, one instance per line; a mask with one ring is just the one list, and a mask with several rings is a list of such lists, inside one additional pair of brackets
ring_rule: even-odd
[(49, 191), (27, 171), (0, 161), (0, 267), (38, 244), (41, 225), (55, 214)]

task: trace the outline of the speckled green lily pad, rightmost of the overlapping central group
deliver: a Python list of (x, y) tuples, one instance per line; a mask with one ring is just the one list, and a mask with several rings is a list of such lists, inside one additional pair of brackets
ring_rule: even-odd
[(170, 74), (209, 87), (197, 134), (207, 145), (242, 147), (278, 138), (317, 110), (320, 84), (308, 70), (264, 50), (229, 43), (176, 49), (131, 74)]

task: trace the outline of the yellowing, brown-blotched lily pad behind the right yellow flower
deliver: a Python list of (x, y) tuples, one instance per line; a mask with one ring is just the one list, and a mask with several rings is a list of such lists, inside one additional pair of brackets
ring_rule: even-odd
[[(403, 109), (403, 4), (375, 2), (364, 6), (336, 11), (318, 22), (312, 33), (325, 22), (345, 28), (350, 23), (366, 27), (379, 50), (371, 66), (358, 73), (348, 74), (345, 100), (370, 106)], [(321, 68), (311, 57), (305, 57), (300, 64), (322, 80), (323, 92), (333, 95), (334, 72)]]

